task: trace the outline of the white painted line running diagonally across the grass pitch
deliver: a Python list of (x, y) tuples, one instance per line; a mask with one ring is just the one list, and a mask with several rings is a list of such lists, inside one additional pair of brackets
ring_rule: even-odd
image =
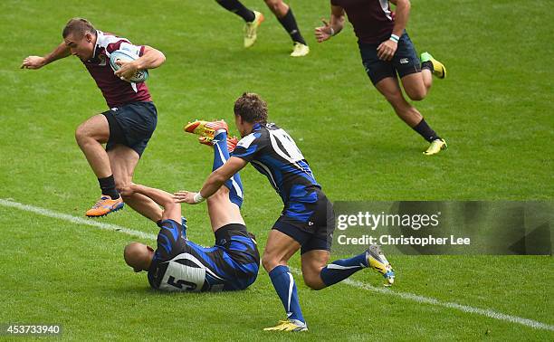
[[(34, 214), (41, 214), (43, 216), (52, 217), (52, 218), (55, 218), (55, 219), (60, 219), (60, 220), (68, 221), (68, 222), (71, 222), (71, 223), (91, 225), (93, 227), (97, 227), (97, 228), (100, 228), (100, 229), (103, 229), (103, 230), (106, 230), (106, 231), (126, 233), (128, 235), (137, 236), (137, 237), (143, 238), (143, 239), (156, 240), (156, 238), (157, 238), (157, 235), (155, 235), (153, 233), (139, 232), (139, 231), (135, 231), (133, 229), (129, 229), (129, 228), (119, 226), (117, 224), (100, 223), (100, 222), (93, 221), (92, 219), (85, 219), (85, 218), (81, 218), (81, 217), (77, 217), (77, 216), (72, 216), (70, 214), (56, 213), (56, 212), (53, 212), (52, 210), (44, 209), (44, 208), (41, 208), (41, 207), (38, 207), (38, 206), (33, 206), (33, 205), (29, 205), (29, 204), (21, 204), (21, 203), (18, 203), (18, 202), (14, 202), (14, 201), (2, 199), (2, 198), (0, 198), (0, 205), (6, 206), (6, 207), (11, 207), (11, 208), (16, 208), (16, 209), (23, 210), (25, 212), (31, 212), (31, 213), (34, 213)], [(293, 271), (296, 274), (301, 274), (301, 271), (298, 270), (298, 269), (291, 268), (291, 271)], [(488, 317), (488, 318), (494, 318), (494, 319), (503, 320), (503, 321), (506, 321), (506, 322), (521, 324), (523, 326), (527, 326), (527, 327), (530, 327), (530, 328), (554, 331), (554, 326), (553, 325), (542, 323), (542, 322), (532, 320), (532, 319), (529, 319), (529, 318), (521, 318), (521, 317), (518, 317), (518, 316), (511, 316), (511, 315), (503, 314), (501, 312), (497, 312), (497, 311), (494, 311), (492, 309), (480, 309), (480, 308), (470, 307), (468, 305), (462, 305), (462, 304), (458, 304), (458, 303), (454, 303), (454, 302), (440, 301), (438, 299), (416, 295), (415, 293), (398, 292), (398, 291), (390, 290), (390, 289), (386, 289), (386, 288), (379, 288), (379, 287), (375, 287), (375, 286), (369, 285), (365, 282), (361, 282), (361, 281), (358, 281), (358, 280), (349, 280), (349, 279), (347, 279), (347, 280), (342, 280), (342, 283), (347, 284), (349, 286), (353, 286), (353, 287), (358, 288), (358, 289), (370, 290), (370, 291), (377, 292), (377, 293), (382, 293), (382, 294), (387, 294), (387, 295), (390, 295), (390, 296), (395, 296), (395, 297), (398, 297), (398, 298), (401, 298), (401, 299), (416, 301), (418, 303), (430, 304), (430, 305), (435, 305), (435, 306), (438, 306), (438, 307), (443, 307), (443, 308), (448, 308), (448, 309), (457, 309), (457, 310), (460, 310), (460, 311), (463, 311), (463, 312), (482, 315), (482, 316), (485, 316), (485, 317)]]

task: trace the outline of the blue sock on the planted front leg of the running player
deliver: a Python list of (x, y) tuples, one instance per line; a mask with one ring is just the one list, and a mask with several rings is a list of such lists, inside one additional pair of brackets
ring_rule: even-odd
[(282, 301), (287, 318), (298, 319), (302, 323), (305, 323), (306, 321), (302, 316), (298, 300), (296, 283), (294, 283), (294, 278), (292, 278), (291, 270), (287, 266), (279, 265), (269, 272), (269, 276), (272, 279), (273, 288), (275, 288)]

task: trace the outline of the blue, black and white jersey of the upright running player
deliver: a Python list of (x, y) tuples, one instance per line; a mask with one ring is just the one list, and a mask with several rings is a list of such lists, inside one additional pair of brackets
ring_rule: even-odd
[(250, 162), (267, 176), (285, 205), (314, 202), (310, 189), (320, 185), (294, 140), (275, 124), (255, 124), (252, 133), (239, 141), (231, 157)]

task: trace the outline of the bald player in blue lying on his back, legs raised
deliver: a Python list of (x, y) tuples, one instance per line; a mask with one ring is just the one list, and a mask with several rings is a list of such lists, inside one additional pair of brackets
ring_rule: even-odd
[[(227, 143), (236, 141), (202, 139), (214, 146), (214, 170), (229, 158)], [(241, 216), (243, 186), (239, 174), (228, 179), (207, 201), (215, 235), (213, 247), (202, 247), (186, 239), (186, 220), (181, 204), (173, 195), (144, 185), (130, 185), (122, 195), (148, 196), (164, 210), (158, 222), (158, 249), (146, 244), (129, 243), (124, 258), (134, 271), (148, 271), (150, 286), (167, 291), (244, 290), (258, 275), (260, 254), (253, 234), (248, 233)]]

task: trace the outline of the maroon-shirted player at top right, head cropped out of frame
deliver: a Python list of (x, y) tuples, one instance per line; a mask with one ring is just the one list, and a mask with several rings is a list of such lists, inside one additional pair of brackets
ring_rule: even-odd
[(319, 43), (339, 33), (344, 26), (345, 12), (358, 37), (362, 62), (373, 85), (385, 96), (396, 115), (416, 130), (431, 145), (427, 156), (446, 148), (446, 141), (429, 127), (421, 113), (402, 95), (396, 73), (411, 100), (423, 100), (433, 84), (433, 74), (440, 79), (446, 69), (431, 54), (417, 58), (416, 49), (406, 33), (410, 13), (409, 0), (391, 0), (396, 14), (391, 12), (387, 0), (331, 0), (330, 23), (315, 29)]

